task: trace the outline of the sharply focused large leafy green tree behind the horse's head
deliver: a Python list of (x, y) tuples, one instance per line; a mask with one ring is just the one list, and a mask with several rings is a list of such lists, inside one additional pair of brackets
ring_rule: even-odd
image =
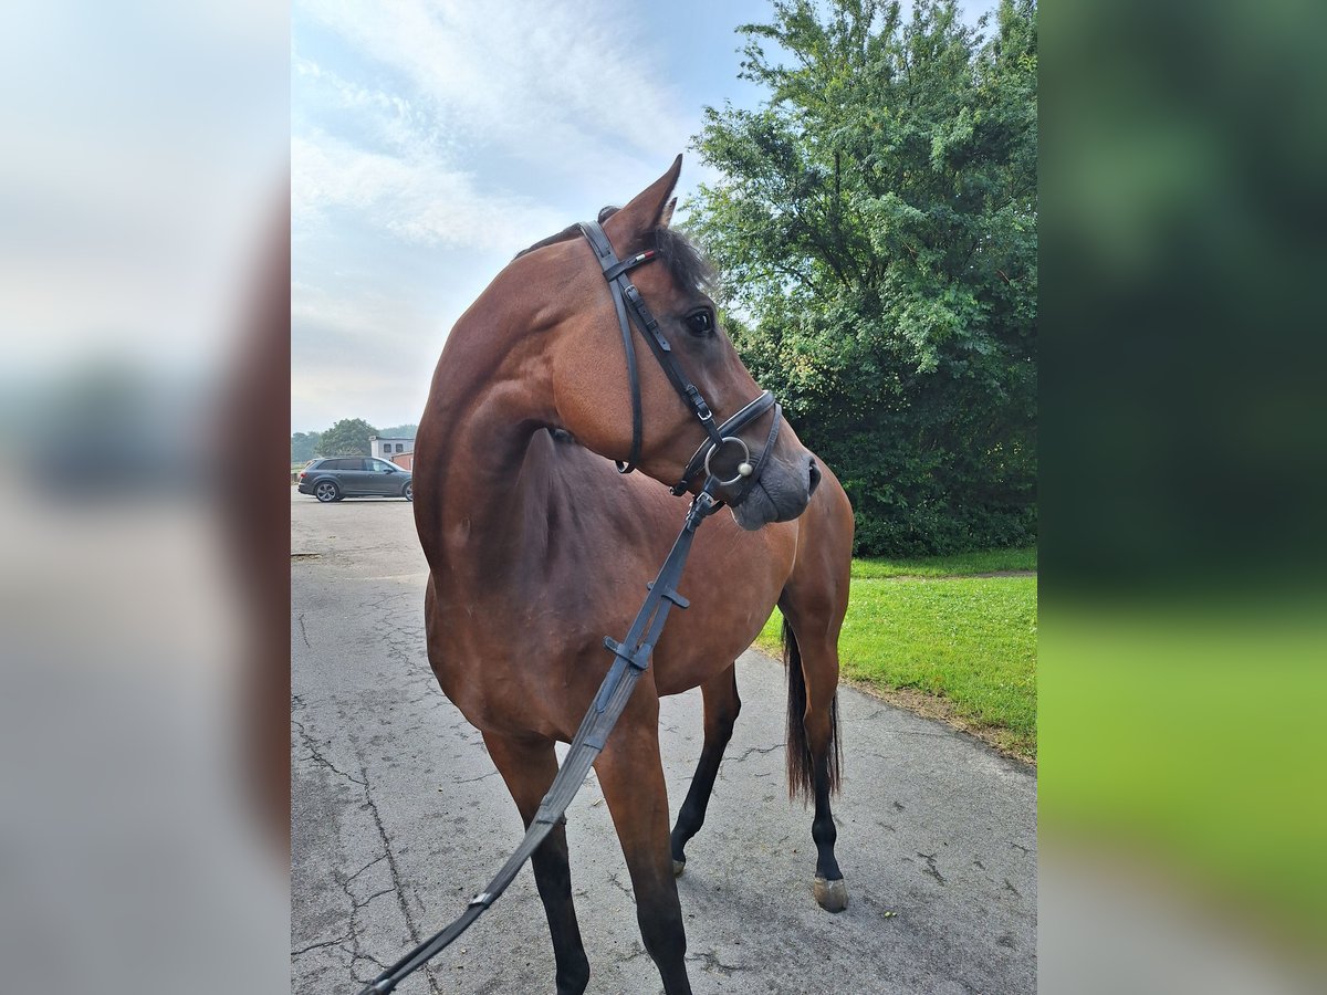
[[(756, 111), (706, 109), (689, 206), (729, 332), (857, 509), (863, 553), (1036, 529), (1036, 7), (776, 0)], [(776, 42), (778, 58), (764, 45)]]

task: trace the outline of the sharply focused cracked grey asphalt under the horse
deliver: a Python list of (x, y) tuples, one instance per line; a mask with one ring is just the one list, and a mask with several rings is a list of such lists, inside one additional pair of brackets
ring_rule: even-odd
[[(460, 913), (522, 827), (425, 659), (410, 505), (320, 505), (292, 488), (291, 556), (292, 991), (354, 995)], [(679, 880), (697, 995), (1034, 991), (1034, 773), (840, 691), (835, 815), (849, 907), (829, 915), (811, 894), (811, 813), (787, 797), (782, 667), (748, 651), (738, 687), (742, 718)], [(699, 691), (664, 702), (662, 748), (675, 816), (701, 750)], [(589, 991), (661, 991), (593, 776), (567, 816)], [(552, 990), (528, 866), (427, 976), (399, 988)]]

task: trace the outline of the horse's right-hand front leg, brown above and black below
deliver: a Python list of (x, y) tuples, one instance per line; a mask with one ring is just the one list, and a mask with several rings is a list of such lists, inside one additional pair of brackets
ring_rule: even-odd
[(682, 906), (669, 854), (667, 788), (660, 759), (658, 711), (658, 695), (646, 675), (594, 762), (594, 769), (632, 876), (636, 919), (645, 950), (660, 970), (665, 995), (691, 995)]

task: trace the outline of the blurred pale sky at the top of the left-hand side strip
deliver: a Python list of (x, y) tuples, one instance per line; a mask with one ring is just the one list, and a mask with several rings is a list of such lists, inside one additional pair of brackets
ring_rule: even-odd
[(7, 5), (5, 399), (85, 362), (226, 366), (285, 210), (285, 28), (265, 0)]

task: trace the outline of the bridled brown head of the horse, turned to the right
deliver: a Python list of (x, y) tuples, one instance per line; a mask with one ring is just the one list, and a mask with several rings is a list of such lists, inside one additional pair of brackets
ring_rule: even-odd
[[(717, 496), (733, 505), (738, 524), (756, 529), (800, 515), (820, 471), (778, 407), (762, 402), (760, 387), (718, 324), (706, 264), (667, 227), (681, 168), (678, 155), (664, 176), (604, 216), (602, 236), (592, 231), (559, 240), (560, 265), (571, 272), (544, 356), (561, 427), (600, 455), (634, 462), (670, 486), (685, 480), (695, 492), (713, 474), (722, 482)], [(594, 239), (601, 239), (597, 245)], [(625, 264), (625, 279), (614, 288), (617, 261)], [(633, 306), (630, 291), (622, 293), (626, 283), (640, 292), (644, 312)], [(630, 321), (634, 391), (617, 297)], [(641, 328), (650, 318), (657, 334)], [(687, 385), (703, 401), (697, 403)], [(706, 407), (713, 411), (709, 426)], [(755, 417), (725, 430), (743, 409)], [(718, 444), (721, 438), (727, 440)]]

